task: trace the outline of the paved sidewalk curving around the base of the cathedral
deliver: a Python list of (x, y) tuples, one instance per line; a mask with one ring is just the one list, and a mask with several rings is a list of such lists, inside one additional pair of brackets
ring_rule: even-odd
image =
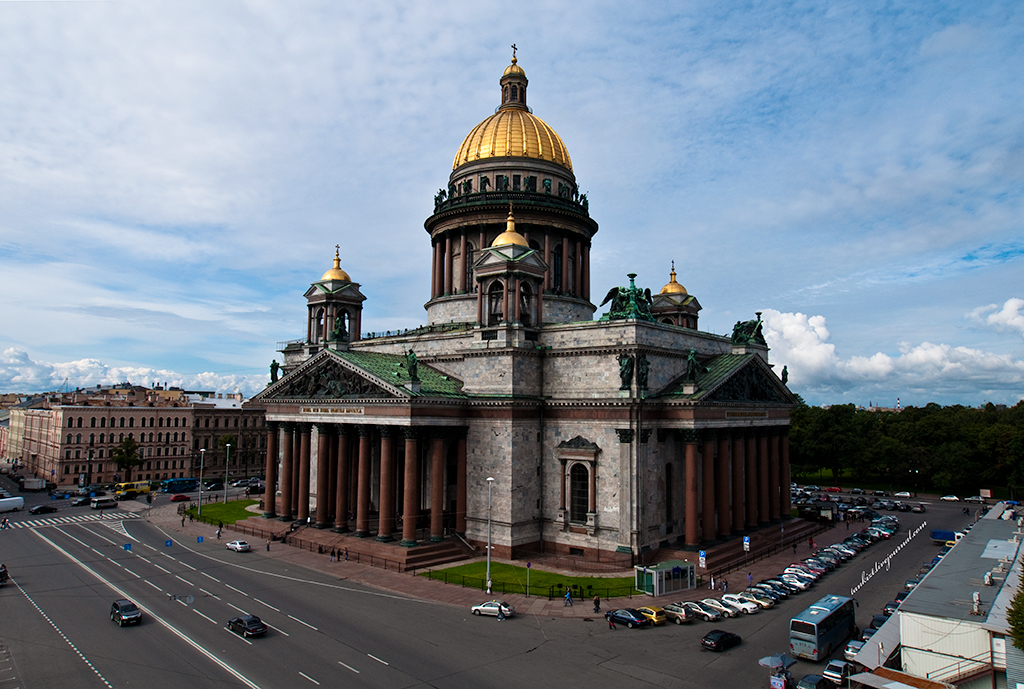
[[(122, 503), (122, 505), (127, 506), (128, 503)], [(141, 512), (143, 515), (148, 509), (147, 506), (138, 504), (139, 509), (135, 510), (133, 509), (134, 506), (135, 504), (132, 504), (132, 507), (129, 509), (132, 509), (134, 512)], [(177, 505), (173, 503), (155, 507), (152, 509), (147, 520), (160, 528), (167, 531), (176, 531), (187, 539), (203, 536), (204, 540), (216, 540), (216, 526), (204, 524), (198, 521), (189, 522), (186, 519), (184, 526), (182, 527), (181, 516), (177, 514), (176, 510)], [(859, 530), (859, 528), (856, 525), (851, 526), (848, 530), (843, 523), (840, 523), (831, 529), (818, 534), (816, 536), (816, 541), (819, 545), (828, 545), (842, 541), (848, 533), (852, 533), (857, 530)], [(224, 531), (221, 533), (221, 541), (224, 542), (233, 541), (236, 537), (244, 539), (245, 536), (244, 534), (237, 534), (229, 527), (225, 527)], [(269, 552), (266, 551), (265, 543), (251, 542), (250, 545), (253, 547), (253, 552), (262, 557), (272, 557), (291, 564), (300, 565), (332, 576), (337, 576), (340, 580), (355, 582), (364, 586), (388, 591), (395, 595), (408, 596), (410, 598), (417, 598), (424, 601), (454, 605), (456, 607), (469, 609), (469, 607), (473, 605), (499, 596), (497, 594), (495, 596), (488, 596), (486, 593), (478, 589), (468, 589), (456, 585), (449, 585), (443, 582), (427, 578), (426, 576), (399, 573), (390, 569), (372, 567), (357, 562), (331, 562), (331, 558), (327, 554), (321, 555), (300, 550), (298, 548), (292, 548), (276, 541), (270, 545)], [(725, 576), (729, 584), (729, 590), (732, 592), (738, 592), (745, 589), (748, 571), (752, 574), (753, 579), (756, 583), (760, 579), (776, 575), (795, 559), (808, 557), (809, 554), (810, 549), (805, 543), (798, 547), (796, 557), (791, 551), (784, 551), (752, 564), (746, 571), (733, 571)], [(692, 558), (695, 559), (695, 555), (692, 556)], [(477, 560), (480, 559), (482, 558), (477, 558)], [(474, 560), (466, 560), (454, 564), (465, 564), (465, 562), (473, 561)], [(496, 558), (493, 559), (492, 562), (505, 562), (520, 566), (523, 565), (523, 562), (519, 560), (510, 561), (499, 560)], [(573, 574), (572, 572), (564, 573), (567, 575)], [(618, 575), (630, 576), (632, 573), (632, 570), (627, 570), (621, 572)], [(705, 586), (703, 588), (677, 592), (660, 598), (639, 595), (632, 598), (602, 599), (601, 613), (603, 614), (607, 610), (624, 607), (637, 607), (639, 605), (665, 605), (666, 603), (679, 600), (698, 600), (708, 596), (719, 596), (722, 593), (721, 589), (711, 592), (708, 590), (707, 586)], [(573, 601), (574, 605), (566, 606), (564, 604), (564, 599), (562, 598), (548, 600), (547, 598), (538, 598), (536, 596), (526, 597), (521, 594), (501, 594), (500, 597), (502, 600), (514, 605), (516, 612), (519, 614), (544, 615), (549, 617), (594, 617), (594, 608), (591, 601), (577, 600)]]

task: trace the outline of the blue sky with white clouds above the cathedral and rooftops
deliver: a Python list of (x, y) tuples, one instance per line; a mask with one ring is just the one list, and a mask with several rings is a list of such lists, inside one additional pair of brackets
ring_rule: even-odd
[(811, 404), (1024, 397), (1024, 4), (963, 0), (0, 0), (0, 392), (255, 394), (336, 244), (425, 324), (512, 43), (593, 295), (675, 260)]

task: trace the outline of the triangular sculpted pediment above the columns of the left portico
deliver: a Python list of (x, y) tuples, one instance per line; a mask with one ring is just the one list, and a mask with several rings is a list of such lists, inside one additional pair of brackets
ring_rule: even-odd
[(322, 351), (256, 396), (262, 401), (297, 399), (400, 399), (406, 390), (350, 361)]

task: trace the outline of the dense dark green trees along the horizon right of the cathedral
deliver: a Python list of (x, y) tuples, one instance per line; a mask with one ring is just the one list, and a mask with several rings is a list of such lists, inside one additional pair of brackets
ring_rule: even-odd
[(1024, 493), (1024, 401), (1013, 407), (908, 406), (867, 412), (853, 404), (793, 410), (794, 475), (820, 471), (833, 481), (896, 489)]

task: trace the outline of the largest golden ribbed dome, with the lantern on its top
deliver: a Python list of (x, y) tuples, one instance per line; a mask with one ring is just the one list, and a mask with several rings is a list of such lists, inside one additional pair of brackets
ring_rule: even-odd
[(526, 106), (526, 73), (516, 64), (515, 57), (500, 81), (502, 104), (469, 132), (459, 146), (452, 169), (473, 161), (508, 157), (549, 161), (571, 172), (572, 160), (561, 137)]

